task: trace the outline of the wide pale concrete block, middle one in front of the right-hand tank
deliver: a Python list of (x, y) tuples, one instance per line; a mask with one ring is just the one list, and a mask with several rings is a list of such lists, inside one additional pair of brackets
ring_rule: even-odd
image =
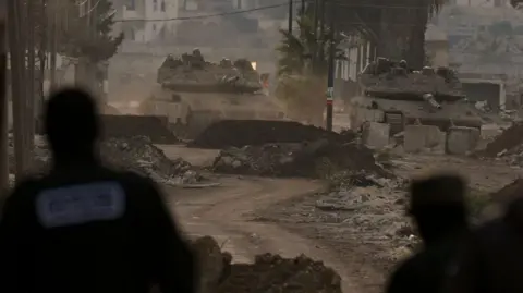
[(438, 126), (406, 125), (403, 133), (403, 149), (408, 152), (418, 152), (427, 148), (445, 150), (446, 134)]

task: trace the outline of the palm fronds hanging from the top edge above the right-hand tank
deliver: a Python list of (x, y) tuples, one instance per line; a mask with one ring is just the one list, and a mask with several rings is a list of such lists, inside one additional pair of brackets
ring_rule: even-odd
[[(405, 59), (412, 68), (425, 62), (425, 30), (431, 15), (448, 0), (327, 0), (336, 1), (337, 23), (358, 32), (376, 54)], [(327, 2), (328, 3), (328, 2)]]

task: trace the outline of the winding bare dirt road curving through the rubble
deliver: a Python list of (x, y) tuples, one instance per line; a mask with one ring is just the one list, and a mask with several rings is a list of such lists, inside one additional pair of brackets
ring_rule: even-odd
[[(337, 255), (312, 240), (291, 233), (273, 223), (253, 221), (255, 209), (281, 200), (318, 193), (320, 182), (257, 178), (223, 178), (222, 185), (206, 190), (169, 190), (173, 212), (190, 235), (212, 235), (231, 252), (235, 261), (247, 261), (262, 253), (285, 257), (300, 254), (324, 260), (343, 278), (344, 292), (368, 292), (360, 288), (361, 273)], [(360, 270), (361, 267), (357, 268)]]

